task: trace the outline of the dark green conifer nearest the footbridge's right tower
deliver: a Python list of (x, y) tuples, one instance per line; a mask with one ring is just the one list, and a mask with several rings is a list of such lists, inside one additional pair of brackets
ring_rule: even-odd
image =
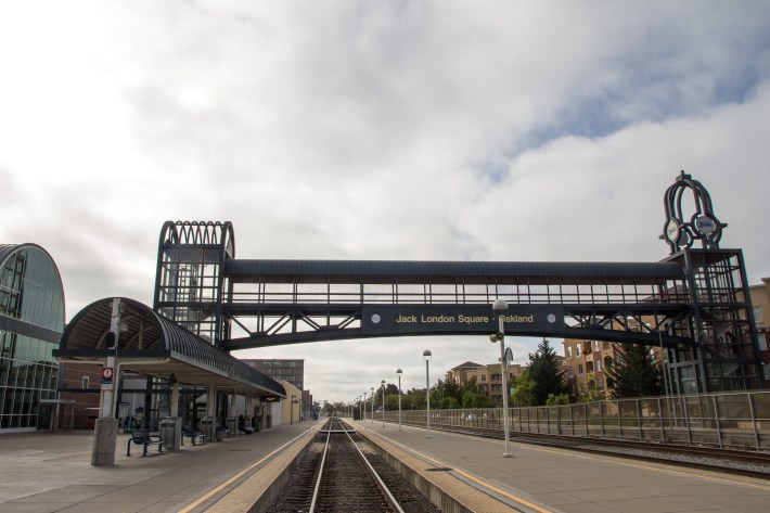
[(618, 352), (620, 358), (604, 367), (614, 399), (665, 394), (663, 368), (650, 346), (632, 344), (619, 347)]

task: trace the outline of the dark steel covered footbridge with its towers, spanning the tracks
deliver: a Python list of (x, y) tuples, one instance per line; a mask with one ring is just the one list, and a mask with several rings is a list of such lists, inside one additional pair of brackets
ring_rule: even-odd
[(255, 260), (229, 222), (168, 221), (154, 309), (224, 350), (333, 339), (505, 333), (666, 348), (703, 392), (759, 388), (740, 249), (658, 262)]

